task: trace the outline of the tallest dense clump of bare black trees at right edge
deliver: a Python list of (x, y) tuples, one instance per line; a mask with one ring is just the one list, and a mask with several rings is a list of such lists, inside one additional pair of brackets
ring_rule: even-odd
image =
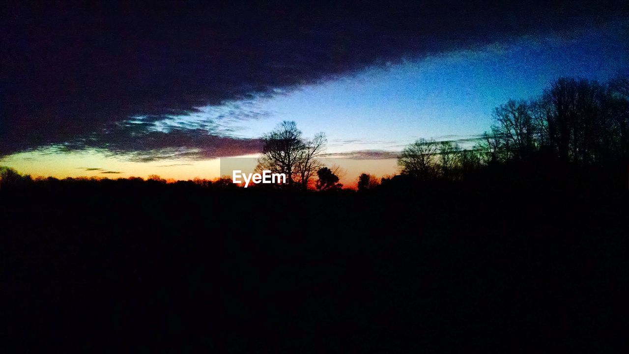
[[(556, 158), (584, 170), (629, 165), (629, 80), (556, 80), (537, 99), (494, 109), (491, 133), (477, 145), (482, 162)], [(549, 161), (549, 160), (547, 160)]]

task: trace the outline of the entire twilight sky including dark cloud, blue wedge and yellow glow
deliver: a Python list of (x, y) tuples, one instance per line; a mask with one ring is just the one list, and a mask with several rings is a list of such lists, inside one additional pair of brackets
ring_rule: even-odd
[(214, 178), (292, 120), (349, 158), (348, 184), (417, 138), (471, 146), (559, 77), (629, 67), (628, 6), (606, 1), (8, 8), (0, 165), (31, 175)]

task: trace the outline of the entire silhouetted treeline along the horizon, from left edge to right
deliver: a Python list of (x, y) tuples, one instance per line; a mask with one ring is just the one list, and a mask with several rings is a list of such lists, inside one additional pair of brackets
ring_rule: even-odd
[[(508, 178), (508, 172), (526, 176), (545, 174), (595, 174), (627, 186), (629, 174), (629, 80), (601, 84), (593, 80), (564, 78), (555, 81), (534, 99), (509, 100), (493, 111), (493, 125), (471, 149), (453, 141), (419, 139), (398, 155), (399, 174), (377, 178), (361, 174), (359, 191), (405, 181), (469, 180)], [(281, 189), (338, 191), (345, 173), (338, 166), (325, 166), (325, 133), (303, 137), (293, 121), (284, 121), (262, 137), (264, 148), (257, 171), (286, 174)], [(517, 167), (509, 170), (509, 167)], [(480, 176), (480, 177), (479, 177)], [(65, 179), (65, 182), (95, 183), (101, 179)], [(130, 177), (125, 183), (144, 182)], [(108, 181), (104, 179), (104, 181)], [(0, 189), (31, 182), (52, 184), (55, 179), (21, 176), (0, 167)], [(231, 179), (164, 180), (150, 175), (148, 183), (188, 184), (203, 187), (236, 187)], [(277, 188), (277, 185), (257, 187)]]

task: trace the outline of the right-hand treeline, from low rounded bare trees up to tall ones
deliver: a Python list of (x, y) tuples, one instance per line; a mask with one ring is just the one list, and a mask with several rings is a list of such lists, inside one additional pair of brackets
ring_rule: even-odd
[[(486, 167), (524, 165), (626, 173), (629, 169), (629, 80), (605, 84), (559, 79), (530, 100), (509, 100), (471, 150), (420, 139), (400, 153), (401, 174), (421, 180), (464, 179)], [(543, 166), (542, 166), (543, 165)], [(615, 176), (620, 177), (620, 176)]]

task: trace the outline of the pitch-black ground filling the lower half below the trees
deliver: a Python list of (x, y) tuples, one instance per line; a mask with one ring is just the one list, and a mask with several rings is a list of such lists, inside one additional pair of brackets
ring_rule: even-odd
[(628, 204), (561, 182), (3, 191), (0, 351), (617, 352)]

